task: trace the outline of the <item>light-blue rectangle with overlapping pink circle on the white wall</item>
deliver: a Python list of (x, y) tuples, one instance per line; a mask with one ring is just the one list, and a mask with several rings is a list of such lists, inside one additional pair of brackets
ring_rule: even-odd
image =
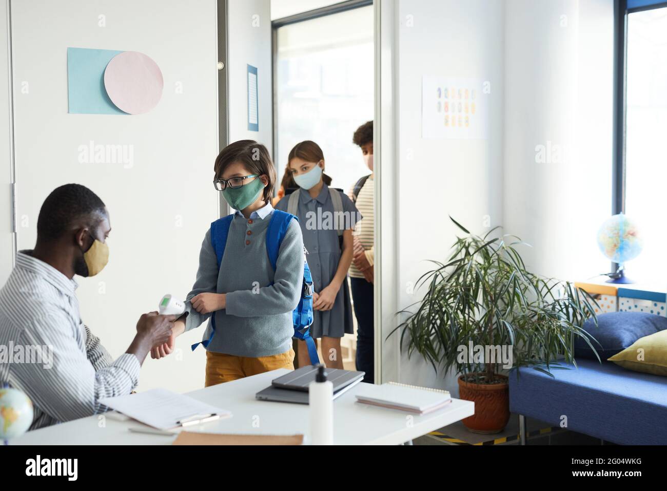
[(137, 51), (67, 48), (71, 114), (142, 114), (163, 90), (157, 63)]

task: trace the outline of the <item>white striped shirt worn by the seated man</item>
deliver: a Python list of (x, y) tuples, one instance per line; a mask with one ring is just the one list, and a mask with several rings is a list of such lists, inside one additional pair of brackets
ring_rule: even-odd
[(0, 383), (33, 402), (30, 429), (105, 412), (103, 397), (139, 383), (137, 357), (116, 361), (81, 322), (77, 283), (21, 251), (0, 290)]

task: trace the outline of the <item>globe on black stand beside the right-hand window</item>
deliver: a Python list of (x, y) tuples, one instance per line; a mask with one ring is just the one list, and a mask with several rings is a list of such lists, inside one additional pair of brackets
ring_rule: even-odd
[(612, 263), (618, 264), (618, 272), (610, 274), (607, 283), (632, 283), (625, 276), (625, 263), (640, 255), (643, 245), (635, 222), (623, 213), (605, 220), (598, 230), (598, 247)]

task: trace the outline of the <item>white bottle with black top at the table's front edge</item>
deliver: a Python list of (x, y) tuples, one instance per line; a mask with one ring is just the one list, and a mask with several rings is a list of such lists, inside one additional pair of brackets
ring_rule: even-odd
[(333, 445), (333, 383), (324, 369), (317, 365), (315, 381), (308, 385), (311, 445)]

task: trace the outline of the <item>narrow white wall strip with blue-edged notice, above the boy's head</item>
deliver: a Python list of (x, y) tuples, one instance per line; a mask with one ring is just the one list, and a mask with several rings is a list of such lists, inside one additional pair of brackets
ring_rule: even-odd
[[(273, 154), (271, 2), (227, 1), (229, 142), (256, 140)], [(257, 67), (259, 131), (247, 129), (247, 65)]]

